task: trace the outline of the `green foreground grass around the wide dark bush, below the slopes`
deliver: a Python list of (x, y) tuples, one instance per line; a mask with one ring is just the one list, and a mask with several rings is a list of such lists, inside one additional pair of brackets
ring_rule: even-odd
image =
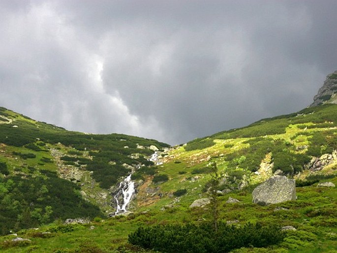
[[(337, 178), (332, 181), (336, 182)], [(270, 252), (276, 252), (276, 250), (284, 253), (329, 252), (336, 250), (337, 247), (337, 229), (333, 223), (334, 212), (337, 210), (336, 193), (336, 188), (317, 188), (315, 185), (298, 187), (298, 200), (266, 207), (252, 204), (250, 192), (229, 193), (219, 197), (220, 219), (238, 220), (238, 224), (249, 221), (262, 224), (275, 223), (281, 226), (292, 225), (297, 228), (297, 231), (287, 232), (284, 241), (270, 248)], [(229, 196), (240, 200), (240, 203), (225, 203)], [(276, 207), (289, 210), (274, 211)], [(34, 238), (27, 230), (19, 231), (18, 236), (31, 239), (32, 246), (35, 247), (33, 252), (36, 253), (54, 252), (56, 249), (75, 252), (81, 244), (83, 247), (83, 242), (91, 242), (91, 245), (96, 245), (105, 252), (117, 253), (117, 249), (127, 243), (128, 234), (139, 226), (181, 222), (199, 223), (202, 220), (211, 219), (208, 209), (209, 207), (206, 206), (190, 210), (180, 205), (163, 210), (152, 208), (152, 211), (146, 213), (137, 212), (129, 216), (109, 218), (103, 222), (92, 222), (73, 232), (58, 232), (51, 238)], [(91, 225), (94, 229), (90, 229)], [(40, 231), (47, 231), (51, 226), (55, 225), (41, 227)], [(0, 241), (7, 238), (8, 236), (2, 237)], [(32, 246), (2, 249), (1, 252), (29, 252)], [(252, 252), (259, 251), (255, 249)]]

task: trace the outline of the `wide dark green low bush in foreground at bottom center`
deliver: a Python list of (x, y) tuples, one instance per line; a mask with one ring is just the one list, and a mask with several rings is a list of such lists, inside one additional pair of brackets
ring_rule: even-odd
[(267, 247), (283, 240), (285, 232), (276, 225), (262, 226), (246, 223), (243, 226), (218, 224), (166, 224), (139, 227), (128, 236), (128, 242), (144, 249), (165, 253), (218, 253), (242, 247)]

